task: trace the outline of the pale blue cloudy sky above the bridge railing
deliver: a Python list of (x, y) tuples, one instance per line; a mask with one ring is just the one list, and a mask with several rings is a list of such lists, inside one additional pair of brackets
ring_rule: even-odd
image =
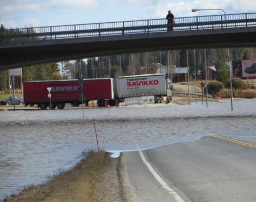
[(256, 12), (255, 0), (0, 0), (5, 28), (45, 27), (175, 17)]

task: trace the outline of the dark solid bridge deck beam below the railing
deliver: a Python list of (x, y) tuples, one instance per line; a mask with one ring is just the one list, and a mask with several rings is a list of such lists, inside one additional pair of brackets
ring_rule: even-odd
[(0, 69), (128, 52), (256, 47), (256, 28), (227, 28), (0, 43)]

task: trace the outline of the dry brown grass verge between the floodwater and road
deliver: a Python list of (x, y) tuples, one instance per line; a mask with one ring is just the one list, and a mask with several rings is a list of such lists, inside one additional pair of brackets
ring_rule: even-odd
[(98, 153), (89, 152), (76, 166), (66, 172), (59, 173), (42, 185), (30, 186), (6, 198), (5, 202), (91, 202), (94, 200), (94, 190), (97, 182), (101, 181), (104, 166), (108, 164), (109, 154), (100, 152), (101, 163), (98, 162)]

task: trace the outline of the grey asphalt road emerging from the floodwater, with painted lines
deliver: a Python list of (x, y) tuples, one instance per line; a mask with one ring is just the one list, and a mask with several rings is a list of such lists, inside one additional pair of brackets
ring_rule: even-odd
[(207, 136), (196, 142), (124, 152), (119, 166), (124, 198), (255, 201), (255, 144), (254, 138)]

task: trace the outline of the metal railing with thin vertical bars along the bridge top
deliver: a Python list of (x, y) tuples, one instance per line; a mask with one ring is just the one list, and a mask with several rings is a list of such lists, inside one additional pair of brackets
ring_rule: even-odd
[[(256, 13), (207, 15), (175, 18), (174, 31), (255, 27)], [(167, 32), (166, 19), (104, 22), (51, 27), (5, 29), (0, 41), (35, 41), (134, 33)]]

